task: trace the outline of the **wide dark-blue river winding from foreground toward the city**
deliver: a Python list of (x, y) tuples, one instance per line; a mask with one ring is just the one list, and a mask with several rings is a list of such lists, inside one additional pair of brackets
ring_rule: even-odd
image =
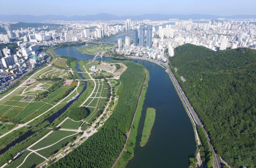
[[(118, 38), (124, 40), (125, 36), (131, 37), (132, 33)], [(108, 42), (114, 42), (118, 38), (109, 39)], [(82, 46), (60, 47), (54, 52), (77, 59), (93, 59), (93, 55), (77, 51), (78, 47)], [(129, 61), (139, 63), (148, 69), (150, 80), (138, 127), (134, 157), (126, 168), (188, 168), (189, 158), (196, 150), (194, 130), (170, 77), (155, 63), (138, 59)], [(147, 144), (141, 147), (140, 139), (148, 107), (156, 109), (156, 119)]]

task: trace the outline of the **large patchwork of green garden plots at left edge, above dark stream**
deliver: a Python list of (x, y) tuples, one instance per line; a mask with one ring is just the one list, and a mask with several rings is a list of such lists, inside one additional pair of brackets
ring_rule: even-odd
[[(20, 95), (12, 95), (0, 105), (0, 119), (27, 122), (44, 113), (63, 98), (70, 87), (60, 87), (40, 101), (35, 101), (36, 91), (46, 91), (54, 82), (35, 83), (22, 87)], [(36, 94), (37, 95), (37, 94)], [(59, 100), (60, 99), (60, 100)]]

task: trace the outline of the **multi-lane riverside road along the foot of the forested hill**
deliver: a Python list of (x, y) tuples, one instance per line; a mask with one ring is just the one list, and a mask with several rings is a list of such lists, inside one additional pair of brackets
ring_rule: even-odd
[(208, 133), (206, 132), (206, 130), (204, 129), (204, 125), (202, 124), (202, 121), (199, 119), (198, 115), (196, 114), (196, 112), (194, 111), (194, 108), (190, 105), (188, 98), (186, 97), (186, 95), (184, 94), (184, 92), (182, 91), (182, 88), (180, 87), (180, 84), (178, 83), (176, 77), (174, 76), (174, 74), (172, 73), (172, 70), (170, 69), (170, 66), (167, 63), (163, 63), (161, 61), (157, 61), (154, 59), (148, 59), (148, 58), (142, 58), (142, 57), (132, 57), (132, 58), (136, 58), (136, 59), (144, 59), (147, 61), (151, 61), (154, 63), (159, 63), (161, 65), (163, 65), (164, 67), (166, 67), (166, 69), (168, 70), (168, 73), (170, 74), (172, 81), (175, 84), (176, 89), (178, 89), (178, 92), (180, 94), (180, 96), (182, 97), (190, 115), (192, 116), (194, 122), (196, 123), (197, 127), (198, 126), (202, 126), (203, 130), (204, 130), (204, 134), (206, 135), (207, 139), (208, 139), (208, 143), (210, 144), (210, 149), (212, 151), (212, 153), (214, 154), (214, 162), (212, 167), (213, 168), (222, 168), (221, 165), (224, 165), (223, 160), (220, 158), (220, 156), (215, 154), (214, 148), (212, 147), (212, 144), (210, 142), (210, 138), (208, 136)]

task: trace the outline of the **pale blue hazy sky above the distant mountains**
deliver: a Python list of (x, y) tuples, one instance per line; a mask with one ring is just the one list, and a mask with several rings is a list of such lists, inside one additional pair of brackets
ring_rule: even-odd
[(0, 14), (256, 14), (256, 0), (0, 0)]

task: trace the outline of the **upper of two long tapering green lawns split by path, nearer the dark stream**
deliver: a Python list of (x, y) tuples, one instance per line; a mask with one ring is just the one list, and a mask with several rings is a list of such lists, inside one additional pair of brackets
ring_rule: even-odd
[(65, 130), (53, 131), (48, 136), (46, 136), (44, 139), (42, 139), (40, 142), (38, 142), (37, 144), (32, 146), (30, 149), (37, 150), (37, 149), (40, 149), (40, 148), (44, 148), (46, 146), (49, 146), (51, 144), (54, 144), (54, 143), (58, 142), (62, 138), (70, 136), (72, 134), (76, 134), (76, 132), (65, 131)]

